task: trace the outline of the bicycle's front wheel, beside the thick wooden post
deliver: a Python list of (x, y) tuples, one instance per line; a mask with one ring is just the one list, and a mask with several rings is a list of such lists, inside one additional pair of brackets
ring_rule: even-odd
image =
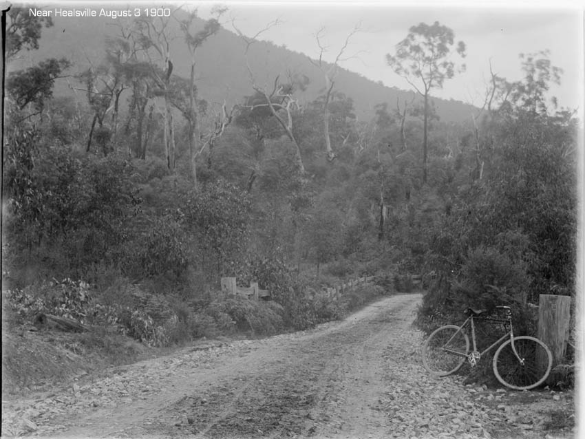
[(544, 383), (553, 366), (549, 347), (531, 336), (514, 337), (514, 347), (518, 356), (512, 350), (511, 340), (498, 347), (493, 355), (493, 373), (498, 381), (516, 390), (529, 390)]

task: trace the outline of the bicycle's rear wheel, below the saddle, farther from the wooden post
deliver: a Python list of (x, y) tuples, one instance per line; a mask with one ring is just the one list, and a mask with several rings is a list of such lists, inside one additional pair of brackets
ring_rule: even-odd
[(447, 376), (457, 372), (469, 352), (469, 337), (456, 325), (441, 326), (423, 345), (423, 365), (430, 373)]

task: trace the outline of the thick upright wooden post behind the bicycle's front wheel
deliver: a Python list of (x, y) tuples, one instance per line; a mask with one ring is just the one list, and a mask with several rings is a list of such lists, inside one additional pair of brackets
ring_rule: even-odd
[(553, 353), (553, 367), (566, 354), (571, 317), (571, 296), (540, 295), (538, 339)]

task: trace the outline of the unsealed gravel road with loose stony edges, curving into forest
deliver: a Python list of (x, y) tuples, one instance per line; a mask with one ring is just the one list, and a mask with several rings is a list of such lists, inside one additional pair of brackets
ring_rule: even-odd
[[(421, 295), (262, 340), (209, 341), (2, 401), (2, 435), (62, 438), (572, 438), (573, 392), (434, 378)], [(3, 397), (4, 398), (4, 397)]]

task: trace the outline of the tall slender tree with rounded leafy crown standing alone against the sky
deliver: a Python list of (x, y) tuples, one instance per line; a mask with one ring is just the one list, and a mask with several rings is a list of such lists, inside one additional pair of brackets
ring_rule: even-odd
[[(425, 100), (423, 184), (427, 182), (429, 95), (431, 89), (442, 88), (445, 79), (455, 74), (455, 63), (450, 58), (453, 45), (453, 30), (438, 21), (433, 25), (420, 23), (412, 26), (407, 37), (396, 45), (396, 54), (386, 55), (386, 61), (394, 72), (403, 76)], [(459, 41), (456, 52), (465, 57), (465, 43)], [(465, 69), (465, 65), (461, 69)], [(415, 81), (419, 81), (419, 85)]]

